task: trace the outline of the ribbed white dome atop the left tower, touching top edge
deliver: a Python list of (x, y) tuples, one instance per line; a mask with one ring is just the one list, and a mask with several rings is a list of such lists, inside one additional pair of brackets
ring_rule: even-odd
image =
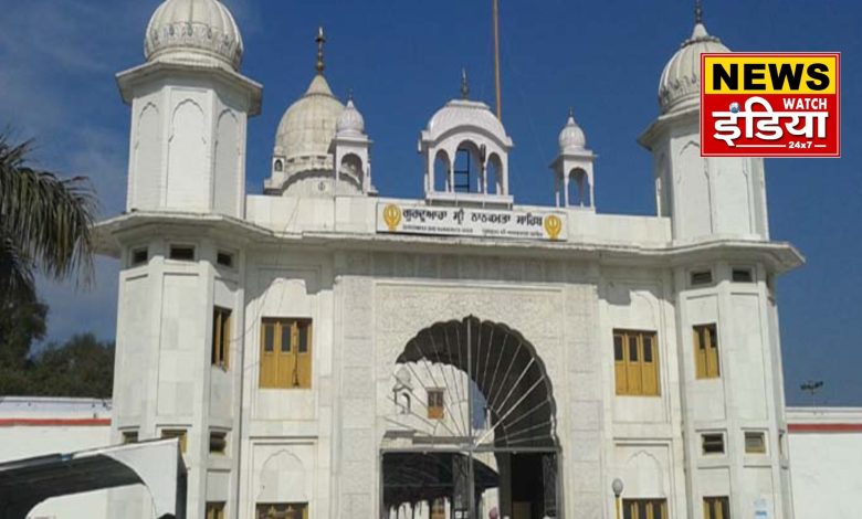
[(227, 64), (236, 71), (242, 53), (240, 29), (219, 0), (166, 0), (144, 39), (148, 61)]

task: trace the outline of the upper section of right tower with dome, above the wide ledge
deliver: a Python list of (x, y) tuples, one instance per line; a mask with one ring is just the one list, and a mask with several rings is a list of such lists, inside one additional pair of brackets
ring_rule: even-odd
[(662, 115), (640, 138), (653, 153), (659, 214), (671, 218), (680, 242), (715, 235), (768, 240), (763, 159), (701, 157), (701, 54), (730, 52), (702, 22), (698, 3), (691, 38), (662, 73)]

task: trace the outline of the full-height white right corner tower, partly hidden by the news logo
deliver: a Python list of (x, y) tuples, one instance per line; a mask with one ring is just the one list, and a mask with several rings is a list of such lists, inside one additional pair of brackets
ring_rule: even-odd
[(640, 138), (653, 155), (658, 214), (670, 220), (673, 244), (687, 251), (672, 269), (684, 516), (788, 519), (793, 512), (772, 283), (788, 268), (776, 251), (795, 252), (769, 242), (763, 160), (701, 157), (705, 52), (729, 50), (706, 31), (698, 1), (691, 38), (661, 76), (661, 115)]

